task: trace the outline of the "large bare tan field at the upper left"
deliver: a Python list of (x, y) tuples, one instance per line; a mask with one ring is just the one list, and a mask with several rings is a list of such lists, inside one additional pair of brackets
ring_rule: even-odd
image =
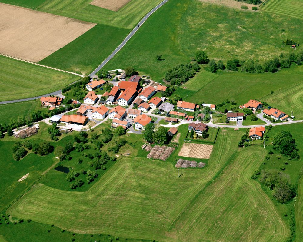
[(95, 25), (0, 3), (0, 53), (38, 62)]

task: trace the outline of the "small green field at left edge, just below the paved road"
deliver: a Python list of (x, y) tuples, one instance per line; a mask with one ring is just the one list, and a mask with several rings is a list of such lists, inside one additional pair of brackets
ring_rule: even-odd
[(4, 122), (9, 122), (9, 120), (15, 119), (17, 120), (18, 116), (24, 116), (27, 118), (29, 114), (34, 111), (36, 107), (36, 101), (25, 101), (25, 102), (17, 102), (17, 103), (8, 103), (0, 105), (0, 124)]

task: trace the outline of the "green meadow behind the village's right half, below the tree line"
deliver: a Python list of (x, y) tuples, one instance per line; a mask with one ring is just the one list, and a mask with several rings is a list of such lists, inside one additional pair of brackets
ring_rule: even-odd
[[(286, 113), (293, 110), (302, 117), (302, 71), (303, 66), (296, 65), (273, 74), (218, 72), (208, 75), (206, 71), (201, 71), (189, 81), (190, 85), (193, 82), (197, 84), (197, 91), (179, 87), (174, 94), (195, 103), (218, 104), (226, 99), (234, 99), (237, 107), (249, 99), (259, 99)], [(274, 93), (271, 94), (271, 91)]]

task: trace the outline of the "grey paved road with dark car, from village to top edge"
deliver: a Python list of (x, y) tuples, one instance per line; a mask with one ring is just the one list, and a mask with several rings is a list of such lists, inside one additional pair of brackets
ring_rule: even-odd
[[(160, 8), (162, 5), (164, 5), (168, 0), (164, 0), (159, 5), (157, 5), (155, 8), (153, 8), (147, 15), (145, 15), (142, 20), (136, 25), (136, 27), (130, 32), (130, 34), (122, 41), (122, 43), (108, 56), (108, 58), (105, 59), (96, 69), (93, 71), (89, 76), (95, 75), (98, 71), (102, 69), (105, 64), (117, 54), (117, 52), (127, 43), (127, 41), (132, 38), (132, 36), (135, 34), (135, 32), (141, 27), (141, 25), (145, 22), (146, 19), (149, 18), (150, 15), (152, 15), (158, 8)], [(139, 27), (138, 27), (139, 26)]]

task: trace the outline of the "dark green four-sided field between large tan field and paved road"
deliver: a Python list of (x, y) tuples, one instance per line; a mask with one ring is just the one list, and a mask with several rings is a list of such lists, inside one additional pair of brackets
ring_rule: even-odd
[(112, 53), (127, 33), (128, 30), (124, 28), (96, 25), (68, 45), (39, 61), (39, 64), (89, 74)]

